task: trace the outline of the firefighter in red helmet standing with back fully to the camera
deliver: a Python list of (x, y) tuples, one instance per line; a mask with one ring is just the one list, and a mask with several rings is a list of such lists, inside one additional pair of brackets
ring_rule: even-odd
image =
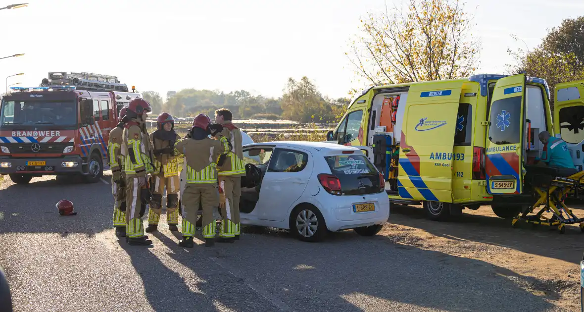
[(180, 247), (193, 247), (193, 236), (197, 223), (199, 204), (203, 207), (203, 237), (205, 246), (215, 244), (215, 220), (213, 210), (219, 204), (217, 169), (215, 160), (230, 150), (227, 138), (217, 135), (223, 127), (211, 124), (211, 119), (199, 114), (193, 120), (193, 127), (187, 137), (176, 143), (176, 149), (186, 158), (186, 186), (180, 194), (184, 204), (182, 211), (182, 234)]

